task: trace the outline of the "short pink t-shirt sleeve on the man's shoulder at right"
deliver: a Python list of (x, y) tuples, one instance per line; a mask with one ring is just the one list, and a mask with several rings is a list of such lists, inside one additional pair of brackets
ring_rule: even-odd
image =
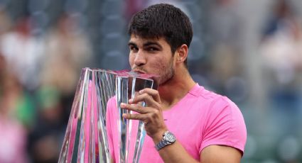
[(212, 101), (207, 114), (200, 152), (209, 145), (226, 145), (237, 148), (243, 154), (247, 129), (239, 108), (222, 96)]

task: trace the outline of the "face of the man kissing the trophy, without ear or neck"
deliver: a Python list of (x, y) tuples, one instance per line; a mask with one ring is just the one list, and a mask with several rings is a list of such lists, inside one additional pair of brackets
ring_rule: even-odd
[(173, 77), (173, 55), (163, 38), (147, 40), (133, 35), (128, 45), (129, 63), (134, 72), (157, 75), (156, 84), (163, 84)]

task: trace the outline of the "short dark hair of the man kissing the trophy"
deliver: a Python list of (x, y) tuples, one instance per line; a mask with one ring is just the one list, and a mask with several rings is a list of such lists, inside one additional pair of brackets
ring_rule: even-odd
[(190, 46), (193, 28), (188, 16), (177, 7), (171, 4), (155, 4), (132, 16), (128, 33), (141, 38), (163, 37), (174, 54), (180, 45)]

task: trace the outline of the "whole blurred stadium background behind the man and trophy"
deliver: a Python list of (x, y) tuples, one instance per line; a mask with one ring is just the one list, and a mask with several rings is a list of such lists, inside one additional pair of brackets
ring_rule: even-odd
[(58, 162), (82, 67), (129, 69), (129, 19), (168, 2), (193, 23), (200, 85), (237, 103), (242, 162), (302, 162), (302, 1), (0, 0), (0, 162)]

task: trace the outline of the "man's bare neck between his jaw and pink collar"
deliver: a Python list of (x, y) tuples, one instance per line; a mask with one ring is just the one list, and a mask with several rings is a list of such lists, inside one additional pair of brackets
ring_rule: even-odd
[(183, 99), (193, 86), (195, 86), (195, 82), (192, 77), (190, 77), (188, 71), (175, 74), (174, 77), (165, 84), (158, 86), (163, 110), (168, 110), (180, 101), (180, 99)]

